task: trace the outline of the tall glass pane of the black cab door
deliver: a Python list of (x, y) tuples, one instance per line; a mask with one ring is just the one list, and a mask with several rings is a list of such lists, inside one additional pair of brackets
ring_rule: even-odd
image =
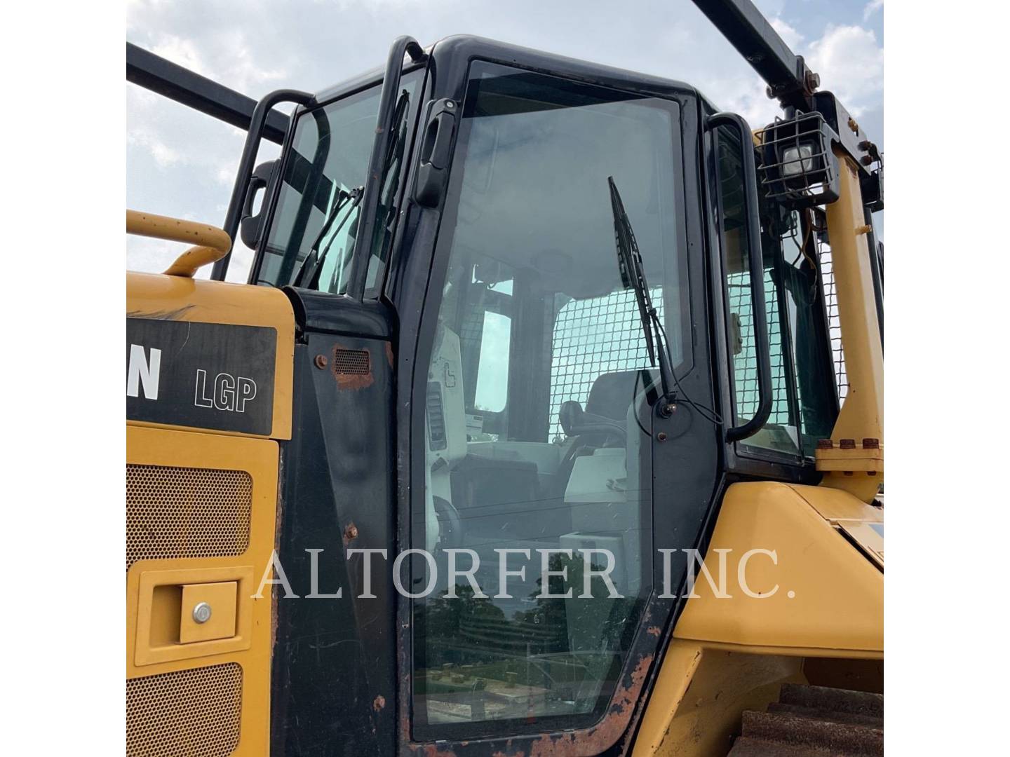
[[(414, 601), (415, 736), (588, 725), (619, 679), (651, 586), (640, 470), (658, 372), (618, 268), (607, 179), (683, 369), (677, 107), (471, 70), (436, 250), (448, 262), (414, 544), (437, 576)], [(479, 590), (449, 584), (446, 548), (476, 555)], [(431, 573), (420, 565), (414, 583)]]

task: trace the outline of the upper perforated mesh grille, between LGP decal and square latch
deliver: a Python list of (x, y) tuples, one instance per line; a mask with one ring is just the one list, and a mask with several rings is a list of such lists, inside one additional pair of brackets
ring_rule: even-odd
[(242, 470), (126, 465), (126, 569), (137, 560), (239, 555), (252, 478)]

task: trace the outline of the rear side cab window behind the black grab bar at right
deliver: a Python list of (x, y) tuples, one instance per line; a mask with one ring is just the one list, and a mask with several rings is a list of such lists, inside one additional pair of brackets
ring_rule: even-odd
[[(723, 249), (727, 294), (727, 344), (736, 423), (760, 403), (749, 253), (745, 234), (739, 138), (718, 131)], [(836, 414), (827, 370), (826, 331), (816, 251), (805, 215), (765, 200), (762, 261), (772, 367), (772, 412), (744, 447), (812, 457), (817, 439), (830, 436)]]

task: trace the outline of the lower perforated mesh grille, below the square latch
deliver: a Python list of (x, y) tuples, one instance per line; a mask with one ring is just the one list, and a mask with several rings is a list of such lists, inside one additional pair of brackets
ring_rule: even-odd
[(234, 662), (126, 681), (128, 757), (219, 757), (238, 746), (242, 668)]

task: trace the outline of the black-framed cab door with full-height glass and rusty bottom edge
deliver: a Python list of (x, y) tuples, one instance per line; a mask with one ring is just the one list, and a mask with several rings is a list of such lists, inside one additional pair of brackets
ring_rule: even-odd
[[(697, 100), (471, 37), (432, 58), (389, 290), (400, 548), (434, 553), (400, 599), (401, 753), (618, 752), (684, 573), (659, 550), (697, 544), (719, 483)], [(611, 177), (691, 400), (670, 418)]]

